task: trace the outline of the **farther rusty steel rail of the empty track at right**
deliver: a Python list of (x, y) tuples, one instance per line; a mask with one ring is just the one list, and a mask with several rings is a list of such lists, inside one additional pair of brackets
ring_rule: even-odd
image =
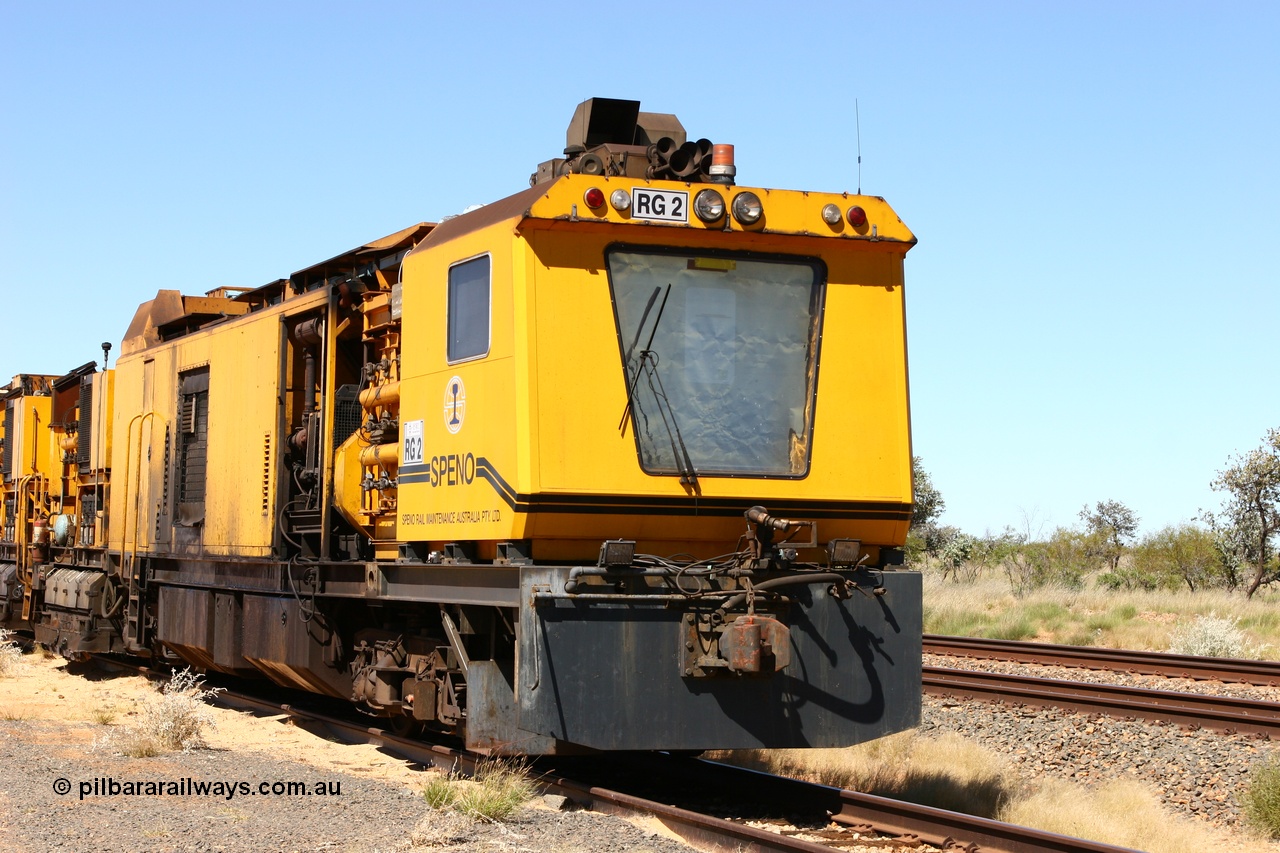
[(1234, 657), (1198, 657), (1120, 648), (1056, 646), (974, 637), (924, 635), (925, 654), (950, 654), (995, 661), (1019, 661), (1044, 666), (1074, 666), (1142, 675), (1231, 681), (1280, 686), (1280, 662), (1247, 661)]

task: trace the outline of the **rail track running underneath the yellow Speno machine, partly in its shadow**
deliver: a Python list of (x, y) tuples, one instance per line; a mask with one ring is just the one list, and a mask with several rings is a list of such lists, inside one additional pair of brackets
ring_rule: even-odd
[[(104, 658), (110, 666), (129, 666)], [(136, 667), (145, 674), (163, 672)], [(307, 697), (310, 699), (311, 697)], [(484, 760), (442, 744), (412, 740), (390, 731), (306, 707), (280, 703), (224, 689), (218, 703), (262, 715), (287, 715), (296, 724), (320, 727), (347, 743), (372, 743), (407, 761), (445, 771), (471, 772)], [(543, 793), (563, 795), (584, 808), (659, 820), (680, 838), (704, 849), (777, 853), (829, 853), (858, 843), (858, 834), (876, 834), (881, 849), (915, 847), (924, 841), (966, 853), (1135, 853), (1129, 848), (1087, 841), (983, 817), (948, 812), (827, 785), (771, 776), (730, 765), (662, 754), (581, 758), (541, 758), (534, 763)], [(572, 776), (567, 774), (572, 774)], [(608, 779), (609, 786), (598, 784)], [(675, 802), (705, 802), (707, 792), (733, 803), (735, 813), (780, 822), (805, 818), (815, 829), (767, 831), (737, 820), (716, 817)], [(654, 799), (660, 797), (664, 802)], [(701, 798), (701, 799), (699, 799)], [(804, 835), (808, 838), (797, 838)], [(818, 840), (809, 840), (818, 839)]]

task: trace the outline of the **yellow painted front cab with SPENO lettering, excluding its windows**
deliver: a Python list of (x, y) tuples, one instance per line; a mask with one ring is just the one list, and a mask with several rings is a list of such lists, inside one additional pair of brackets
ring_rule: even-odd
[[(552, 560), (586, 558), (605, 538), (705, 553), (731, 543), (744, 524), (741, 511), (755, 503), (861, 502), (879, 508), (820, 521), (822, 540), (901, 544), (911, 502), (902, 257), (914, 237), (896, 214), (869, 196), (763, 190), (754, 192), (764, 202), (767, 229), (631, 222), (609, 207), (584, 213), (585, 188), (608, 193), (616, 184), (689, 188), (561, 178), (527, 210), (452, 241), (428, 241), (406, 260), (401, 418), (424, 423), (429, 470), (401, 467), (399, 538), (532, 539), (535, 556)], [(718, 190), (731, 199), (745, 188)], [(863, 206), (868, 225), (827, 225), (826, 204)], [(618, 429), (627, 386), (605, 264), (607, 247), (617, 243), (790, 255), (826, 266), (805, 475), (704, 475), (689, 488), (678, 476), (641, 469), (631, 430)], [(448, 269), (481, 254), (493, 257), (492, 348), (448, 365)], [(447, 387), (454, 377), (466, 401), (462, 426), (451, 433)], [(449, 460), (461, 465), (460, 475), (449, 474)], [(439, 464), (444, 474), (435, 470)], [(575, 508), (593, 497), (595, 506)], [(626, 508), (645, 498), (721, 505), (718, 514)], [(741, 510), (726, 511), (731, 503)]]

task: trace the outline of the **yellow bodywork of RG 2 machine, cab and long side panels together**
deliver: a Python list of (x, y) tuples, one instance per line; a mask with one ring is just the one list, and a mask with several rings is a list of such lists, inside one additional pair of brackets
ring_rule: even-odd
[[(732, 218), (648, 222), (609, 205), (591, 211), (589, 188), (685, 192), (690, 201), (713, 190), (726, 205), (754, 192), (764, 216), (746, 228)], [(858, 205), (867, 224), (854, 228), (844, 213), (827, 224), (824, 205)], [(904, 542), (911, 466), (902, 260), (914, 237), (882, 199), (568, 175), (422, 233), (399, 269), (398, 324), (385, 297), (365, 304), (361, 318), (351, 306), (332, 314), (325, 292), (311, 291), (122, 359), (113, 469), (116, 493), (131, 497), (123, 517), (116, 512), (113, 548), (273, 555), (278, 480), (289, 475), (283, 444), (301, 423), (301, 345), (287, 343), (289, 318), (325, 315), (346, 329), (347, 355), (338, 357), (393, 356), (376, 383), (361, 375), (361, 418), (390, 418), (397, 432), (370, 439), (366, 424), (339, 437), (325, 462), (333, 512), (380, 557), (408, 542), (466, 543), (490, 558), (495, 543), (530, 540), (539, 560), (589, 560), (608, 538), (707, 556), (737, 538), (754, 505), (818, 519), (820, 542)], [(605, 259), (620, 245), (817, 265), (820, 343), (809, 435), (797, 438), (803, 452), (812, 437), (803, 470), (699, 473), (696, 483), (644, 470), (634, 426), (620, 429), (628, 380)], [(477, 257), (490, 266), (489, 347), (451, 364), (451, 268)], [(356, 332), (372, 347), (364, 356), (352, 355)], [(335, 369), (334, 347), (325, 347), (321, 371)], [(148, 460), (178, 452), (182, 375), (200, 369), (209, 371), (207, 491), (200, 517), (186, 519), (166, 491), (174, 467)], [(324, 402), (326, 419), (333, 405)]]

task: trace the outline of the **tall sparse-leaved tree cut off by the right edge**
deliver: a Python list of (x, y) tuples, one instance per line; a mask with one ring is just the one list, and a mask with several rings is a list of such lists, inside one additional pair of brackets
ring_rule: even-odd
[(1226, 493), (1219, 530), (1228, 560), (1249, 567), (1245, 596), (1277, 579), (1271, 565), (1272, 539), (1280, 534), (1280, 429), (1268, 429), (1262, 447), (1235, 456), (1212, 487)]

